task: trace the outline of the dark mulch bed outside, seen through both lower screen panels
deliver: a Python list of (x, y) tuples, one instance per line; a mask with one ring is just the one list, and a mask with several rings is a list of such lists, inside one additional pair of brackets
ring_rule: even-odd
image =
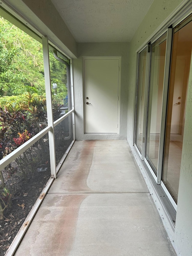
[[(63, 140), (63, 137), (66, 137), (69, 134), (64, 135), (62, 129), (58, 129), (56, 135), (55, 150), (56, 164), (58, 164), (72, 140)], [(48, 158), (49, 157), (47, 155), (45, 159)], [(4, 211), (4, 219), (0, 220), (0, 256), (3, 256), (6, 253), (27, 215), (40, 196), (41, 191), (49, 180), (51, 176), (49, 161), (46, 162), (46, 166), (46, 171), (34, 171), (33, 177), (25, 180), (21, 175), (21, 171), (17, 170), (17, 164), (13, 161), (12, 167), (15, 167), (13, 169), (17, 171), (11, 176), (11, 181), (9, 181), (9, 183), (11, 182), (14, 185), (14, 194), (11, 199), (11, 208), (7, 208)], [(6, 180), (8, 181), (9, 178), (5, 178), (5, 181)]]

